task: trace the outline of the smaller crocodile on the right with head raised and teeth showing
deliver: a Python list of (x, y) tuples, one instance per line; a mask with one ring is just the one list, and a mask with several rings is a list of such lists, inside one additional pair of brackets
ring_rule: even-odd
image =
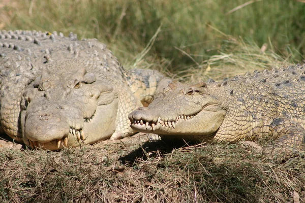
[(305, 149), (304, 94), (304, 64), (247, 72), (222, 82), (173, 81), (129, 119), (134, 130), (162, 138), (252, 142), (258, 152), (281, 159)]

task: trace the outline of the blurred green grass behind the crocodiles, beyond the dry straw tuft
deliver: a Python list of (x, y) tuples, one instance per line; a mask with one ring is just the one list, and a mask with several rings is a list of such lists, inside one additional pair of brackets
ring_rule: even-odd
[[(247, 2), (252, 4), (240, 7)], [(218, 54), (226, 40), (212, 27), (258, 47), (266, 43), (292, 61), (301, 61), (304, 54), (305, 4), (298, 1), (23, 0), (10, 5), (2, 9), (2, 28), (73, 31), (79, 38), (97, 38), (127, 67), (159, 27), (154, 45), (138, 66), (162, 66), (171, 73), (198, 68)]]

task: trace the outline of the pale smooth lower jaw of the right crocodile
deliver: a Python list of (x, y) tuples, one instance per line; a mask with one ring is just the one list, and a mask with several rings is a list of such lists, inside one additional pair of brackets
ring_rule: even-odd
[(214, 133), (220, 127), (226, 112), (219, 110), (216, 112), (202, 110), (193, 116), (180, 116), (175, 121), (162, 122), (160, 119), (156, 123), (145, 121), (131, 122), (131, 128), (141, 132), (153, 132), (161, 135), (171, 134), (192, 134), (207, 135)]

